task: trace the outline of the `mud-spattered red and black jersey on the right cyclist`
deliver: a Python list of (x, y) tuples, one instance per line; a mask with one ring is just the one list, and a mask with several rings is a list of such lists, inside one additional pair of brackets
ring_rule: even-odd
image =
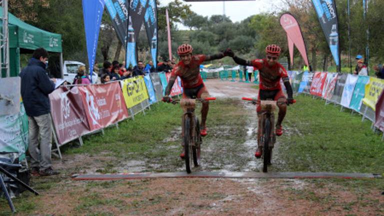
[(254, 59), (250, 61), (255, 69), (259, 71), (259, 88), (263, 90), (281, 89), (280, 78), (288, 78), (285, 68), (278, 62), (269, 65), (266, 59)]

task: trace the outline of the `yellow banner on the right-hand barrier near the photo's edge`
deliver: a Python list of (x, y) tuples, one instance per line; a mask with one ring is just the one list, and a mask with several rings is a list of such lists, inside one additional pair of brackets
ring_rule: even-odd
[(373, 110), (376, 109), (376, 102), (382, 89), (384, 88), (384, 79), (375, 77), (369, 77), (369, 83), (365, 85), (365, 95), (362, 102), (371, 107)]

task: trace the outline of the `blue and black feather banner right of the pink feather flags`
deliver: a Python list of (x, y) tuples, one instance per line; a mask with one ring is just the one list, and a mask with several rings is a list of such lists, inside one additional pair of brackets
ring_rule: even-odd
[(329, 45), (334, 62), (340, 69), (338, 18), (334, 0), (312, 0), (322, 31)]

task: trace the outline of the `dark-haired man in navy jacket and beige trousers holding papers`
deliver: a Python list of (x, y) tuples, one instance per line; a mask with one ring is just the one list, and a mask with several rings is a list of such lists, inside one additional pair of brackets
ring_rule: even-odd
[[(28, 65), (20, 72), (21, 97), (29, 123), (29, 154), (31, 174), (54, 175), (52, 169), (52, 128), (48, 94), (54, 90), (56, 79), (49, 79), (45, 70), (48, 52), (44, 48), (33, 51)], [(40, 136), (40, 145), (38, 144)], [(39, 148), (39, 149), (38, 149)]]

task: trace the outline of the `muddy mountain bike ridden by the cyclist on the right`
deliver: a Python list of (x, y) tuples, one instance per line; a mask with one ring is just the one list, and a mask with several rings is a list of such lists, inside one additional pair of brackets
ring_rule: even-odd
[[(275, 100), (255, 100), (249, 97), (242, 97), (243, 100), (249, 100), (252, 104), (260, 104), (261, 106), (261, 128), (260, 129), (260, 143), (261, 157), (263, 159), (262, 171), (268, 171), (268, 165), (270, 165), (270, 159), (272, 158), (272, 149), (276, 136), (274, 133), (274, 110), (279, 103), (286, 103)], [(293, 100), (293, 102), (296, 102)], [(258, 143), (258, 144), (260, 144)]]

